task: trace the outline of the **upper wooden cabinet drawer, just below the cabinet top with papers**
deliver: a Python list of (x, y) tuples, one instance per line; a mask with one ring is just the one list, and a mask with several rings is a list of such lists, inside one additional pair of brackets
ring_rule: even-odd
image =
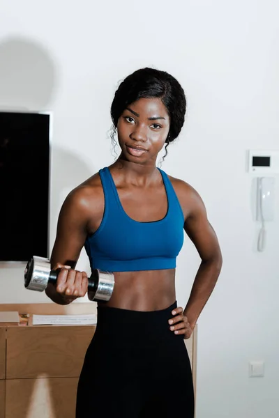
[(79, 377), (95, 327), (14, 327), (7, 330), (6, 378)]

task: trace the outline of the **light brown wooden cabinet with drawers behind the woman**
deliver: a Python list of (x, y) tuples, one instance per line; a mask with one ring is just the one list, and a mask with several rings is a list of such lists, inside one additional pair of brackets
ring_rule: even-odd
[[(90, 305), (2, 304), (0, 310), (30, 314), (94, 313)], [(77, 382), (95, 328), (0, 325), (0, 418), (75, 418)], [(195, 329), (186, 340), (194, 385), (196, 336)]]

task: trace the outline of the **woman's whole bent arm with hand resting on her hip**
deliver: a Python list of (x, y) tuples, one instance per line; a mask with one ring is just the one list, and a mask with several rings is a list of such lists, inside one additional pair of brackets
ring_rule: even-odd
[(216, 285), (222, 267), (222, 254), (216, 233), (207, 219), (201, 197), (187, 183), (181, 181), (179, 183), (179, 185), (176, 183), (178, 187), (176, 186), (175, 189), (185, 217), (184, 230), (202, 259), (186, 308), (184, 310), (176, 308), (172, 312), (174, 315), (172, 322), (169, 321), (169, 324), (172, 324), (171, 330), (175, 334), (185, 334), (184, 338), (188, 339)]

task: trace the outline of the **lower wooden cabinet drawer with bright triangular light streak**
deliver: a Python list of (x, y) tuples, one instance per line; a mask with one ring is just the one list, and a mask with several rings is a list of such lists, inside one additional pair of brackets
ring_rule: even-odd
[(7, 380), (6, 418), (75, 418), (77, 382), (78, 378)]

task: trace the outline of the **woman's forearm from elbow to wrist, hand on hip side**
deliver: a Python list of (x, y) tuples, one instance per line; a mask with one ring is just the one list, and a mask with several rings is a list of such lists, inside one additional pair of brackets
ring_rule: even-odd
[(199, 318), (202, 309), (204, 309), (206, 302), (209, 300), (221, 267), (222, 258), (202, 261), (199, 266), (188, 303), (184, 309), (184, 315), (187, 316), (192, 329), (194, 329), (197, 318)]

